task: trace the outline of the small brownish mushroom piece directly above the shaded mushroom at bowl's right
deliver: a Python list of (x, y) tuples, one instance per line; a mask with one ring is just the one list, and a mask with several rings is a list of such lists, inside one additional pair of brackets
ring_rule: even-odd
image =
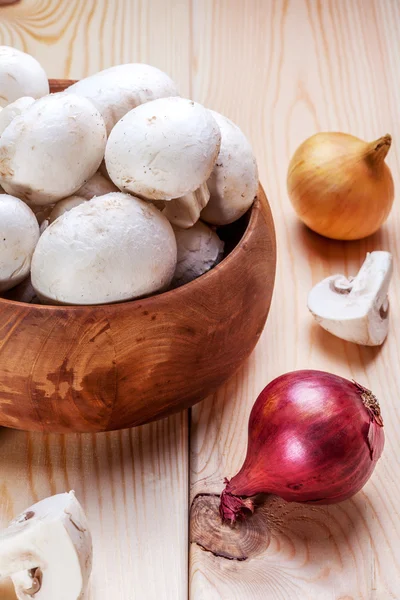
[(200, 213), (210, 199), (210, 192), (203, 183), (195, 192), (189, 192), (180, 198), (165, 203), (163, 214), (176, 227), (189, 229), (200, 218)]

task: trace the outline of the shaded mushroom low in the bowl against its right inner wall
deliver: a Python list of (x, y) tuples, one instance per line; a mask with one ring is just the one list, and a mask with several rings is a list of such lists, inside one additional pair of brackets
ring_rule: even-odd
[(224, 242), (201, 221), (190, 229), (174, 227), (174, 231), (178, 260), (172, 287), (178, 287), (215, 267), (223, 257)]

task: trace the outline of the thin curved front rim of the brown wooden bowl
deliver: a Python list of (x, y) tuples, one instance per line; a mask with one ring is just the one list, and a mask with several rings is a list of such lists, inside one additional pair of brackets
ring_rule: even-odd
[(87, 308), (106, 309), (106, 308), (112, 307), (112, 308), (117, 309), (117, 308), (122, 308), (122, 307), (127, 307), (127, 306), (132, 307), (134, 305), (139, 305), (139, 304), (140, 304), (141, 308), (144, 308), (144, 303), (150, 303), (151, 301), (154, 302), (158, 298), (163, 298), (163, 299), (165, 299), (167, 297), (168, 297), (168, 299), (178, 298), (179, 295), (183, 296), (185, 291), (187, 291), (189, 288), (192, 289), (196, 285), (197, 286), (201, 285), (201, 282), (205, 283), (206, 280), (210, 281), (212, 277), (214, 277), (214, 278), (218, 277), (218, 274), (221, 273), (221, 271), (223, 269), (226, 269), (230, 266), (232, 261), (234, 261), (236, 259), (237, 255), (246, 247), (247, 242), (249, 241), (250, 237), (252, 236), (253, 232), (255, 231), (255, 229), (257, 227), (258, 219), (260, 217), (260, 213), (263, 212), (264, 202), (266, 202), (265, 192), (264, 192), (261, 184), (259, 184), (254, 202), (248, 210), (248, 212), (250, 212), (249, 222), (247, 224), (246, 229), (243, 232), (242, 237), (240, 238), (240, 240), (236, 244), (236, 246), (231, 250), (231, 252), (228, 254), (228, 256), (226, 256), (215, 267), (213, 267), (212, 269), (209, 269), (206, 273), (204, 273), (203, 275), (200, 275), (200, 277), (197, 277), (196, 279), (193, 279), (192, 281), (189, 281), (188, 283), (185, 283), (184, 285), (179, 286), (177, 288), (167, 290), (167, 291), (161, 292), (159, 294), (153, 294), (151, 296), (135, 298), (133, 300), (126, 300), (123, 302), (111, 302), (108, 304), (33, 304), (30, 302), (19, 302), (18, 300), (9, 300), (8, 298), (0, 297), (0, 306), (1, 305), (10, 305), (10, 306), (18, 306), (20, 308), (29, 307), (31, 309), (40, 310), (40, 311), (62, 310), (62, 311), (68, 311), (68, 312), (77, 312), (77, 311), (85, 310)]

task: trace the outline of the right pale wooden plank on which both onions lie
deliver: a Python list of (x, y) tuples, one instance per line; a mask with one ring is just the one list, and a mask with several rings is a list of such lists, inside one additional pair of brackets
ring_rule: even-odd
[[(194, 7), (193, 95), (236, 121), (254, 145), (275, 218), (278, 274), (255, 353), (213, 398), (192, 410), (190, 495), (192, 501), (197, 498), (190, 598), (399, 598), (400, 213), (395, 206), (387, 225), (371, 239), (329, 242), (298, 223), (285, 185), (291, 154), (319, 130), (347, 131), (367, 140), (393, 133), (388, 163), (398, 182), (399, 3), (207, 0)], [(312, 322), (306, 308), (313, 284), (335, 272), (356, 272), (373, 249), (395, 255), (391, 331), (378, 349), (333, 338)], [(215, 534), (213, 554), (201, 547), (202, 532), (208, 527), (221, 533), (212, 494), (241, 466), (251, 406), (268, 381), (300, 368), (354, 377), (374, 390), (385, 417), (384, 455), (353, 500), (304, 507), (270, 498), (252, 531), (249, 526), (232, 532), (226, 526), (222, 541)], [(247, 559), (217, 556), (227, 548), (231, 556), (237, 552), (236, 558)]]

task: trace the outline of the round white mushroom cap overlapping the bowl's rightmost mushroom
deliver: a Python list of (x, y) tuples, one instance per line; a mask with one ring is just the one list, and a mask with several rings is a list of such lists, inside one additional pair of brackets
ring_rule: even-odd
[(210, 111), (185, 98), (162, 98), (131, 110), (114, 127), (106, 166), (123, 191), (171, 200), (209, 177), (221, 134)]

